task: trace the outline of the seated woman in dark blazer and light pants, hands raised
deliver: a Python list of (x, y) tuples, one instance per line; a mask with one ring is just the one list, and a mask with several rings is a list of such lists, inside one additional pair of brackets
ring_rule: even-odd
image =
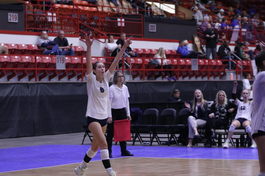
[(184, 105), (188, 108), (188, 111), (191, 112), (191, 116), (188, 117), (189, 143), (187, 147), (192, 147), (193, 138), (200, 137), (197, 127), (206, 124), (208, 118), (208, 102), (203, 99), (201, 90), (196, 89), (194, 91), (193, 100), (190, 103), (185, 102)]

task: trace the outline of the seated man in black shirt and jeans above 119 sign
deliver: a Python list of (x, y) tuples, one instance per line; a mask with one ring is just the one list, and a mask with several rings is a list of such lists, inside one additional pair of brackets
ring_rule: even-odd
[(74, 56), (73, 46), (69, 45), (68, 40), (64, 37), (64, 31), (58, 32), (58, 37), (54, 38), (54, 42), (59, 46), (59, 55)]

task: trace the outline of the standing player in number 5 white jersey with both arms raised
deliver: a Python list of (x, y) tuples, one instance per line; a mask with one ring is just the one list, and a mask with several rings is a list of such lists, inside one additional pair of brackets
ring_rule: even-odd
[(107, 118), (109, 115), (109, 80), (113, 76), (113, 72), (117, 67), (122, 54), (130, 45), (132, 37), (124, 41), (121, 51), (117, 54), (110, 68), (105, 72), (105, 65), (102, 62), (91, 63), (91, 45), (93, 40), (85, 35), (85, 43), (87, 45), (87, 125), (93, 134), (91, 147), (87, 150), (82, 163), (74, 169), (78, 176), (85, 176), (85, 169), (89, 161), (96, 155), (100, 148), (100, 156), (102, 163), (107, 171), (108, 176), (116, 176), (117, 172), (113, 171), (110, 166), (109, 151), (105, 132), (107, 128)]

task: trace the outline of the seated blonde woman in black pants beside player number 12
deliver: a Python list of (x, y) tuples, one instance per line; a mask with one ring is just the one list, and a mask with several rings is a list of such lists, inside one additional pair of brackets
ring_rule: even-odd
[(227, 126), (229, 124), (229, 115), (235, 111), (236, 107), (234, 103), (227, 101), (224, 91), (220, 90), (217, 92), (215, 103), (211, 105), (209, 118), (205, 125), (205, 147), (212, 147), (212, 139), (217, 139), (216, 127)]

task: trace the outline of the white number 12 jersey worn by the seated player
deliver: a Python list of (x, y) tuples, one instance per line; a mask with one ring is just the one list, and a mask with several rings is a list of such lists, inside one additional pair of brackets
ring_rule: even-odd
[(242, 101), (237, 100), (236, 106), (238, 107), (235, 120), (238, 118), (244, 118), (251, 121), (251, 114), (253, 110), (253, 101), (250, 103), (243, 103)]

